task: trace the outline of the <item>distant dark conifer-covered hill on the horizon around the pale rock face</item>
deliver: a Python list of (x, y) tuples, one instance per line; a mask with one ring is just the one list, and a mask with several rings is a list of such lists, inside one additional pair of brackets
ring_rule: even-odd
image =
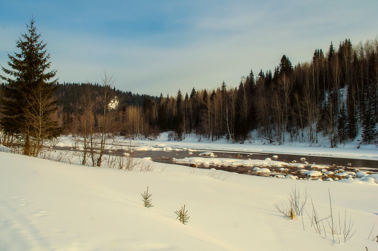
[[(80, 106), (78, 102), (81, 101), (82, 95), (85, 93), (85, 89), (88, 85), (93, 87), (95, 92), (100, 92), (101, 85), (98, 83), (66, 83), (59, 84), (55, 92), (57, 98), (59, 98), (58, 107), (66, 113), (74, 113), (77, 111), (77, 107)], [(121, 91), (113, 87), (113, 93), (118, 97), (121, 106), (134, 105), (137, 107), (143, 106), (145, 98), (155, 101), (158, 97), (144, 95), (139, 93), (132, 93), (131, 91)]]

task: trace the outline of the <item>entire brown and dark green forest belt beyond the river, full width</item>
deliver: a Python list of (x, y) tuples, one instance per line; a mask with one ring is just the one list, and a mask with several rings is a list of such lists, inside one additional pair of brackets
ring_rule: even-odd
[[(33, 30), (33, 20), (28, 28), (30, 35), (25, 33), (23, 38), (37, 41), (40, 35)], [(28, 60), (39, 62), (43, 73), (50, 67), (50, 54), (46, 54), (46, 44), (35, 44), (40, 54)], [(25, 46), (22, 39), (17, 42), (21, 50), (26, 50)], [(9, 66), (22, 71), (17, 65), (25, 55), (8, 54)], [(50, 112), (44, 119), (56, 122), (50, 124), (54, 128), (46, 135), (90, 130), (154, 139), (169, 131), (169, 139), (178, 141), (191, 135), (198, 141), (226, 138), (232, 143), (265, 139), (274, 144), (318, 144), (319, 137), (327, 138), (330, 147), (356, 137), (367, 144), (377, 143), (378, 38), (355, 45), (349, 39), (338, 45), (331, 42), (325, 51), (315, 49), (307, 62), (293, 64), (283, 55), (273, 70), (254, 70), (241, 77), (237, 87), (219, 79), (220, 87), (211, 90), (182, 86), (177, 93), (159, 96), (118, 90), (113, 76), (105, 70), (102, 83), (62, 84), (53, 80), (41, 90), (51, 94), (46, 96)], [(3, 71), (15, 73), (4, 67)], [(34, 90), (27, 84), (17, 85), (17, 79), (23, 77), (17, 74), (14, 81), (2, 76), (4, 143), (21, 132), (14, 124), (6, 126), (7, 116), (17, 115), (18, 106), (33, 107), (25, 101), (30, 99), (15, 91)], [(42, 79), (55, 74), (51, 71)], [(38, 86), (39, 82), (35, 83)], [(25, 119), (19, 115), (19, 120)]]

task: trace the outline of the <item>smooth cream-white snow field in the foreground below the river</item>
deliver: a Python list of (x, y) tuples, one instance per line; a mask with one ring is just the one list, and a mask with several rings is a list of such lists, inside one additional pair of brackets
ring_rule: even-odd
[[(173, 142), (167, 147), (259, 147), (205, 144)], [(366, 154), (375, 158), (373, 151)], [(0, 152), (0, 160), (0, 250), (378, 249), (373, 240), (378, 234), (374, 182), (265, 178), (162, 163), (153, 163), (149, 172), (128, 172), (6, 152)], [(141, 196), (147, 186), (151, 208), (143, 206)], [(290, 220), (273, 203), (288, 204), (294, 186), (310, 196), (303, 217)], [(310, 198), (319, 219), (330, 215), (328, 189), (338, 236), (332, 236), (330, 219), (322, 221), (321, 234), (311, 226)], [(184, 205), (190, 216), (186, 225), (175, 214)], [(344, 243), (350, 217), (356, 232)]]

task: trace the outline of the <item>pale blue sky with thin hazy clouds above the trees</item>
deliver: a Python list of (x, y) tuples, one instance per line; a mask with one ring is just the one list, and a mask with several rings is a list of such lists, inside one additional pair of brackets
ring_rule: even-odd
[[(376, 0), (12, 0), (0, 2), (0, 65), (33, 15), (59, 82), (159, 96), (231, 88), (251, 70), (293, 64), (378, 34)], [(2, 72), (0, 74), (3, 74)]]

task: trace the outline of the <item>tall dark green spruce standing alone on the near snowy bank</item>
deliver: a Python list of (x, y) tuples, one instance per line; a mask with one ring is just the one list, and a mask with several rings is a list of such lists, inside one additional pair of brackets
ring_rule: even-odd
[(54, 78), (57, 71), (45, 73), (51, 66), (50, 53), (46, 54), (46, 43), (40, 41), (34, 18), (26, 25), (28, 32), (22, 33), (16, 41), (16, 47), (21, 50), (11, 56), (8, 53), (8, 65), (11, 70), (2, 67), (5, 74), (0, 75), (7, 84), (2, 88), (3, 99), (0, 120), (6, 133), (19, 135), (24, 141), (23, 153), (37, 156), (42, 150), (46, 139), (56, 137), (61, 128), (53, 120), (57, 108), (54, 91), (59, 88)]

